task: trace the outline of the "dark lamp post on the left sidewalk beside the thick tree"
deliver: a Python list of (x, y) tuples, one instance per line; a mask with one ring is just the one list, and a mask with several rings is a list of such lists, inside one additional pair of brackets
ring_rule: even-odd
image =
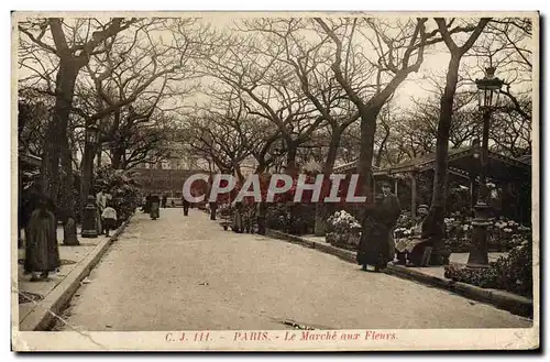
[(81, 187), (81, 218), (82, 218), (82, 238), (97, 238), (97, 210), (92, 193), (94, 185), (94, 156), (98, 142), (98, 128), (89, 124), (86, 128), (84, 145), (84, 165), (82, 165), (82, 187)]

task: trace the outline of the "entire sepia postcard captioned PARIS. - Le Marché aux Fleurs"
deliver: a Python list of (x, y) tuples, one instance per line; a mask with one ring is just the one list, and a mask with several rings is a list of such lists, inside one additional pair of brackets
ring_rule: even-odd
[(12, 34), (13, 351), (539, 348), (539, 13)]

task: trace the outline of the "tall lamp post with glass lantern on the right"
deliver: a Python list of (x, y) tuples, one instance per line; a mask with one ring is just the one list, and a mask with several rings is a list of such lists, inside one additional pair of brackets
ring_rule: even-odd
[[(488, 266), (487, 228), (491, 226), (491, 208), (488, 206), (487, 191), (487, 164), (488, 164), (488, 129), (491, 111), (498, 102), (498, 96), (503, 80), (495, 77), (495, 67), (485, 69), (485, 77), (476, 79), (480, 110), (483, 112), (483, 139), (481, 150), (475, 149), (480, 160), (480, 186), (477, 200), (474, 206), (474, 219), (472, 220), (472, 243), (468, 267), (479, 268)], [(481, 152), (480, 152), (481, 151)]]

